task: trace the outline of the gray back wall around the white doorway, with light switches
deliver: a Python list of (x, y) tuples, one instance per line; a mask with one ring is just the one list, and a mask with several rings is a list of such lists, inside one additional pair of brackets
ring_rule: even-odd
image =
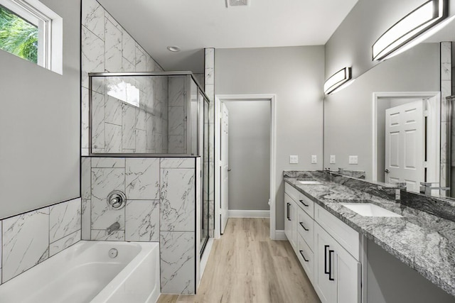
[[(283, 170), (322, 169), (323, 46), (215, 50), (215, 94), (277, 94), (277, 230), (284, 229)], [(299, 155), (299, 164), (289, 164)], [(319, 162), (311, 164), (311, 155)]]

